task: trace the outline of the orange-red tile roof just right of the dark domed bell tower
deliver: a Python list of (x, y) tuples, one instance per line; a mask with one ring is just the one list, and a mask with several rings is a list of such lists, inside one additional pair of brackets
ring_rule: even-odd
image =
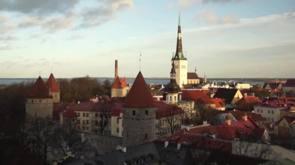
[(206, 96), (202, 90), (181, 90), (181, 99), (182, 100), (191, 100), (198, 103), (199, 101), (203, 101), (204, 104), (214, 104), (214, 102)]

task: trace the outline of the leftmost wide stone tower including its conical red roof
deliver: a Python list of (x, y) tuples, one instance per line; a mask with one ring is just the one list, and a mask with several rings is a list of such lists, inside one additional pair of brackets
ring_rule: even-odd
[(35, 119), (41, 117), (52, 119), (52, 102), (53, 99), (52, 96), (49, 95), (49, 89), (39, 76), (31, 92), (27, 96), (26, 118)]

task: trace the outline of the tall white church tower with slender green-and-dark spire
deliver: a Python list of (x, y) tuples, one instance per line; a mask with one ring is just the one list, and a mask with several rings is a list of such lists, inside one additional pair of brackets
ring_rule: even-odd
[(181, 28), (180, 28), (180, 15), (178, 20), (178, 35), (176, 42), (176, 52), (171, 59), (171, 64), (174, 62), (176, 71), (176, 82), (183, 88), (182, 84), (187, 84), (187, 60), (182, 52)]

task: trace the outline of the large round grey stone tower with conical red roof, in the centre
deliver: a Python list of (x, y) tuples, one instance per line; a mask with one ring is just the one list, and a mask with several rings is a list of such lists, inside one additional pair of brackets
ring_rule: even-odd
[(155, 140), (156, 108), (148, 85), (138, 73), (123, 104), (123, 146)]

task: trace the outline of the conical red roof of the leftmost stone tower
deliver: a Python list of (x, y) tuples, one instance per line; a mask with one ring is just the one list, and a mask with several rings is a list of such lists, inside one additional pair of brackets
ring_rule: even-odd
[(44, 83), (43, 79), (39, 76), (36, 83), (34, 83), (31, 92), (27, 96), (28, 98), (52, 98), (49, 95), (49, 90)]

